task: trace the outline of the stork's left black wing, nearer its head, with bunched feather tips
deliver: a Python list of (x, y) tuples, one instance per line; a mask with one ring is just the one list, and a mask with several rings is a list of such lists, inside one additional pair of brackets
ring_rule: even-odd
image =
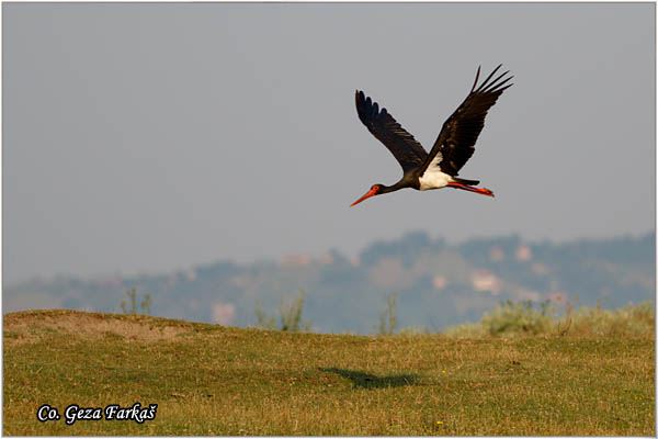
[(363, 91), (356, 91), (355, 100), (361, 122), (393, 153), (405, 173), (424, 164), (428, 153), (386, 109), (379, 110), (377, 103), (366, 98)]

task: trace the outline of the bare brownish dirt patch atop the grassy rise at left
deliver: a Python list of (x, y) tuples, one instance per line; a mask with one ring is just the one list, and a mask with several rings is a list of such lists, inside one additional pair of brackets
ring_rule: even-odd
[(168, 318), (143, 315), (86, 313), (70, 309), (25, 311), (2, 317), (3, 342), (36, 342), (45, 335), (63, 333), (90, 339), (107, 336), (134, 341), (172, 339), (194, 330), (194, 325)]

